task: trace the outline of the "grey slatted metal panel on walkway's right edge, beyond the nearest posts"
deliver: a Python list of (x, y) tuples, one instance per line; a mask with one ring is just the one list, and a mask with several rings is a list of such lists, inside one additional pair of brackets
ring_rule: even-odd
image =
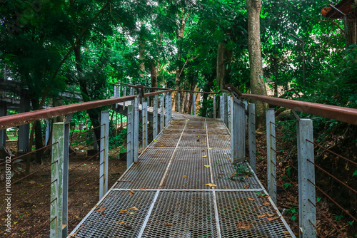
[(231, 163), (243, 162), (246, 159), (246, 105), (231, 96)]

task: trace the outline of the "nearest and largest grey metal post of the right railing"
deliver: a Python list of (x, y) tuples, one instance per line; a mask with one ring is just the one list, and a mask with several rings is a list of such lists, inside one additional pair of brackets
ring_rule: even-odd
[[(300, 119), (297, 123), (298, 140), (298, 219), (299, 233), (303, 238), (316, 237), (316, 191), (313, 144), (313, 122), (310, 119)], [(311, 162), (309, 162), (310, 160)], [(309, 180), (312, 182), (309, 182)], [(313, 205), (311, 204), (313, 203)], [(313, 224), (311, 224), (310, 222)]]

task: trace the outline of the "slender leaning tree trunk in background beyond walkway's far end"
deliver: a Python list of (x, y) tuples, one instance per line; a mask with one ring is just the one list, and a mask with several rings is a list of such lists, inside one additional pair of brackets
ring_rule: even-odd
[[(188, 13), (185, 17), (185, 11), (184, 9), (182, 10), (181, 18), (180, 18), (180, 27), (176, 32), (176, 38), (177, 38), (177, 58), (176, 58), (176, 75), (175, 75), (175, 88), (176, 89), (181, 89), (181, 71), (183, 67), (183, 63), (181, 61), (182, 57), (182, 38), (183, 38), (183, 33), (185, 32), (185, 26), (186, 26), (186, 21), (188, 19), (188, 16), (190, 16), (190, 13)], [(174, 102), (172, 103), (173, 105), (173, 110), (176, 110), (177, 107), (177, 97), (176, 97), (176, 92), (172, 92), (172, 97), (174, 98)]]

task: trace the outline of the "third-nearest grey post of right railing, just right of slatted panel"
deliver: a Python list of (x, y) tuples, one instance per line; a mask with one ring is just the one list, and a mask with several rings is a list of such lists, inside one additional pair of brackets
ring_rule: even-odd
[(249, 165), (256, 172), (256, 105), (248, 104)]

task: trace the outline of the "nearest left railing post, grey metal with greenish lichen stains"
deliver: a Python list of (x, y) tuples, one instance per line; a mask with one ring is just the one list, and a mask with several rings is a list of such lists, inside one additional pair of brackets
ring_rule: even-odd
[[(63, 168), (64, 168), (64, 123), (54, 123), (52, 141), (51, 165), (51, 215), (54, 221), (50, 224), (50, 237), (62, 237), (62, 210), (63, 210)], [(57, 143), (58, 142), (58, 143)]]

